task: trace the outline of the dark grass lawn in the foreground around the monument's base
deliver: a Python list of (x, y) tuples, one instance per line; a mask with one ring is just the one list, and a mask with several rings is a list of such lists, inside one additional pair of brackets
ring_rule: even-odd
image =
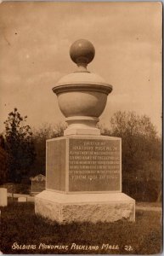
[(57, 224), (35, 215), (32, 202), (1, 207), (1, 251), (8, 254), (161, 253), (161, 212), (136, 212), (136, 222)]

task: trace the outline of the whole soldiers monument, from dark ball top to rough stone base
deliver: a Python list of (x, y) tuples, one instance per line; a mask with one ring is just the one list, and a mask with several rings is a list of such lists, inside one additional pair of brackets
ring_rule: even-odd
[(112, 86), (88, 71), (94, 54), (86, 39), (72, 44), (76, 71), (53, 88), (68, 127), (47, 141), (46, 189), (35, 212), (59, 223), (135, 220), (135, 201), (122, 193), (122, 139), (101, 136), (96, 126)]

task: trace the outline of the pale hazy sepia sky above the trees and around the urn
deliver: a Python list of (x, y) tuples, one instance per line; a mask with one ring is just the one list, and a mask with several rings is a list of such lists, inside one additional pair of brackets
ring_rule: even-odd
[(161, 15), (157, 2), (1, 3), (0, 132), (14, 108), (32, 128), (65, 121), (52, 88), (76, 70), (69, 50), (86, 38), (95, 48), (88, 70), (113, 86), (101, 124), (135, 111), (161, 135)]

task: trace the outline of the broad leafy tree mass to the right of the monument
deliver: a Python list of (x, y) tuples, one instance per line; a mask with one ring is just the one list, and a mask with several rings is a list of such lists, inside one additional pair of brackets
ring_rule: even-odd
[(101, 126), (101, 130), (104, 135), (122, 137), (124, 192), (139, 200), (155, 201), (161, 187), (161, 140), (150, 118), (119, 111), (110, 119), (110, 129)]

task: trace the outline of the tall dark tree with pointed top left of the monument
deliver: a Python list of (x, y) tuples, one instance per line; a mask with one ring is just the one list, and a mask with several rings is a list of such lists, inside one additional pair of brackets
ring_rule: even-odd
[(8, 153), (8, 179), (20, 182), (35, 160), (31, 127), (25, 125), (27, 116), (21, 117), (17, 108), (8, 113), (5, 124), (6, 150)]

